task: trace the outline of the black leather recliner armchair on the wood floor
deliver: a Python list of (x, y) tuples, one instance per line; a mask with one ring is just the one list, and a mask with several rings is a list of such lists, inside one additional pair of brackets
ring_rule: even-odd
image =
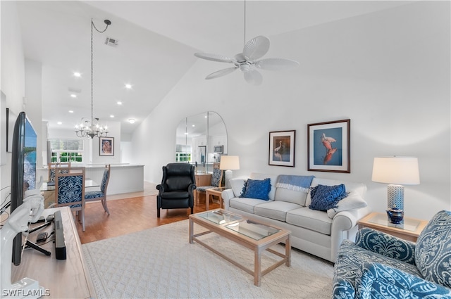
[(163, 179), (156, 186), (156, 216), (160, 217), (160, 209), (181, 209), (194, 207), (194, 165), (188, 163), (169, 163), (163, 166)]

